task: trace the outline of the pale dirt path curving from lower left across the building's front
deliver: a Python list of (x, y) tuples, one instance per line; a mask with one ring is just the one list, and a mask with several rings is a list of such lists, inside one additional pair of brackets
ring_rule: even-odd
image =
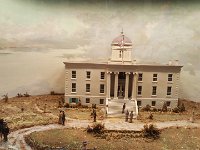
[[(102, 123), (105, 124), (105, 128), (108, 130), (142, 130), (144, 123), (134, 121), (134, 123), (127, 123), (123, 120), (104, 120)], [(63, 129), (63, 128), (86, 128), (88, 124), (92, 124), (91, 121), (88, 120), (77, 120), (77, 119), (70, 119), (67, 118), (66, 125), (58, 125), (58, 124), (51, 124), (46, 126), (34, 126), (30, 128), (25, 128), (21, 130), (17, 130), (12, 132), (9, 135), (9, 142), (7, 143), (0, 143), (0, 149), (10, 149), (10, 150), (31, 150), (31, 148), (25, 143), (24, 136), (28, 135), (35, 131), (45, 131), (50, 129)], [(159, 129), (178, 126), (178, 127), (200, 127), (200, 122), (197, 123), (190, 123), (188, 121), (169, 121), (169, 122), (157, 122), (154, 123), (157, 125)]]

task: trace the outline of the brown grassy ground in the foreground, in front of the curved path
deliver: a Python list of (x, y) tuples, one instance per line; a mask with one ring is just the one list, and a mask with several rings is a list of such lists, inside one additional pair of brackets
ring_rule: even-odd
[[(115, 134), (115, 136), (114, 136)], [(142, 137), (131, 138), (124, 134), (117, 139), (118, 133), (112, 133), (110, 138), (97, 138), (81, 129), (55, 129), (30, 134), (30, 139), (35, 144), (51, 147), (65, 147), (67, 149), (80, 149), (82, 142), (87, 141), (87, 148), (97, 147), (98, 150), (172, 150), (172, 149), (199, 149), (200, 129), (170, 128), (161, 132), (157, 140)], [(56, 138), (55, 138), (56, 137)]]

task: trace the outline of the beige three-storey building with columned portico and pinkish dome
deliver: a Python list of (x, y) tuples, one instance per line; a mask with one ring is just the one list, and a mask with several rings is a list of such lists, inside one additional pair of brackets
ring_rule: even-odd
[(121, 111), (121, 103), (127, 103), (136, 113), (137, 107), (147, 104), (177, 106), (182, 68), (177, 61), (138, 64), (132, 60), (132, 42), (123, 33), (112, 41), (111, 50), (107, 62), (64, 62), (67, 103), (97, 104), (112, 112)]

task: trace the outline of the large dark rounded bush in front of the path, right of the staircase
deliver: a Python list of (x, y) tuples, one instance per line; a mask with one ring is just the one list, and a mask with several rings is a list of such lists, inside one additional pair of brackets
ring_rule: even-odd
[(144, 129), (142, 130), (143, 136), (145, 138), (153, 138), (158, 139), (160, 137), (160, 131), (153, 124), (144, 125)]

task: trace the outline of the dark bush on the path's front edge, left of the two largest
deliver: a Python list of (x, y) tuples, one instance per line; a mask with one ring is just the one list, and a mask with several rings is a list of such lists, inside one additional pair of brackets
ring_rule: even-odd
[(86, 130), (87, 130), (88, 133), (101, 134), (101, 133), (104, 132), (104, 124), (95, 123), (95, 124), (93, 124), (92, 127), (88, 125)]

